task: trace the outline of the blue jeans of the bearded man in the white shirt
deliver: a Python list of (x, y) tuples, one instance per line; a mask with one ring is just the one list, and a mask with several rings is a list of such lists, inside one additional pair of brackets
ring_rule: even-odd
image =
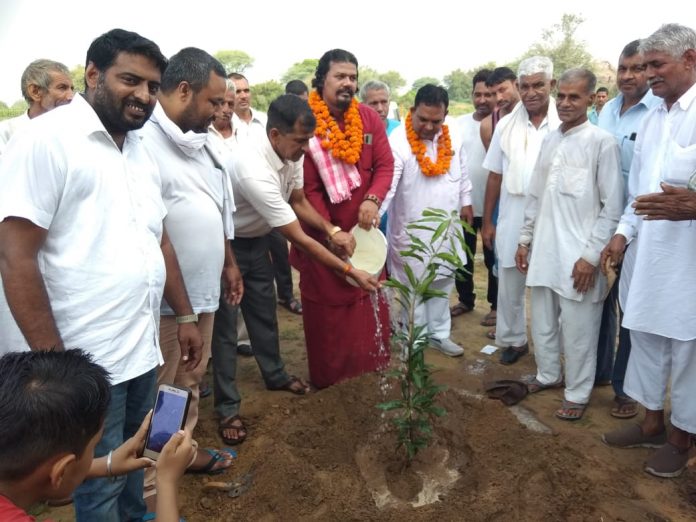
[[(132, 437), (155, 398), (157, 370), (111, 387), (111, 402), (104, 419), (104, 433), (94, 450), (102, 457)], [(142, 470), (128, 475), (86, 480), (73, 494), (77, 522), (139, 521), (145, 514)]]

